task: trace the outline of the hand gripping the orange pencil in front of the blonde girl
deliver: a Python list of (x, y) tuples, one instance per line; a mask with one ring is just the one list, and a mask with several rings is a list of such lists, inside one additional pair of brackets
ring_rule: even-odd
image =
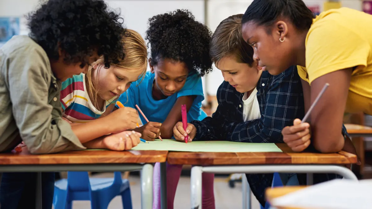
[(104, 117), (113, 128), (113, 133), (133, 130), (137, 127), (138, 113), (131, 107), (122, 107)]

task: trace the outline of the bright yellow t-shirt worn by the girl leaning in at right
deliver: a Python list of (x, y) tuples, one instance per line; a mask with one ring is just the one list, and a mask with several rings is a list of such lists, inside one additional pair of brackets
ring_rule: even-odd
[(306, 68), (298, 66), (299, 76), (311, 84), (327, 73), (356, 67), (346, 112), (372, 115), (372, 15), (349, 8), (322, 12), (313, 20), (305, 46)]

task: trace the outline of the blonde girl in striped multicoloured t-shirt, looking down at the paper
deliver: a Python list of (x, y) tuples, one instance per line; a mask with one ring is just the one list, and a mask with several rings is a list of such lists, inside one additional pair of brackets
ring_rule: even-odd
[[(125, 56), (119, 62), (110, 63), (107, 67), (104, 58), (100, 57), (90, 65), (87, 74), (74, 75), (62, 83), (60, 101), (62, 116), (66, 120), (84, 123), (99, 118), (105, 112), (109, 113), (111, 108), (107, 107), (115, 102), (132, 82), (143, 77), (147, 69), (147, 48), (144, 39), (138, 32), (127, 29), (122, 41)], [(136, 124), (138, 113), (132, 108), (125, 108), (128, 109), (128, 121), (134, 122), (131, 125)], [(128, 129), (134, 128), (128, 126)], [(132, 132), (123, 133), (124, 135), (119, 134), (118, 138), (132, 137), (129, 136)], [(116, 149), (110, 146), (106, 148)]]

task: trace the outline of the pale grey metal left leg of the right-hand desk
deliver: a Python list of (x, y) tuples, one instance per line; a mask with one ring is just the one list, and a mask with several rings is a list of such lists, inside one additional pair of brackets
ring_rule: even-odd
[(191, 209), (202, 209), (202, 167), (191, 168)]

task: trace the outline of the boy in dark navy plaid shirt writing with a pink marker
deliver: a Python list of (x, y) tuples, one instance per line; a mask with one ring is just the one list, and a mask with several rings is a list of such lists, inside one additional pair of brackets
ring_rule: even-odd
[[(216, 112), (212, 117), (192, 121), (186, 131), (182, 122), (177, 123), (173, 128), (176, 140), (184, 141), (184, 136), (189, 135), (189, 142), (283, 143), (282, 129), (293, 125), (294, 119), (304, 117), (304, 98), (296, 66), (275, 76), (264, 71), (253, 57), (253, 48), (241, 36), (242, 16), (223, 20), (212, 36), (210, 54), (225, 80), (217, 91)], [(264, 190), (271, 186), (273, 174), (246, 176), (253, 194), (264, 206)], [(280, 174), (280, 177), (286, 185), (306, 182), (297, 174)], [(334, 178), (334, 174), (317, 174), (314, 183)]]

